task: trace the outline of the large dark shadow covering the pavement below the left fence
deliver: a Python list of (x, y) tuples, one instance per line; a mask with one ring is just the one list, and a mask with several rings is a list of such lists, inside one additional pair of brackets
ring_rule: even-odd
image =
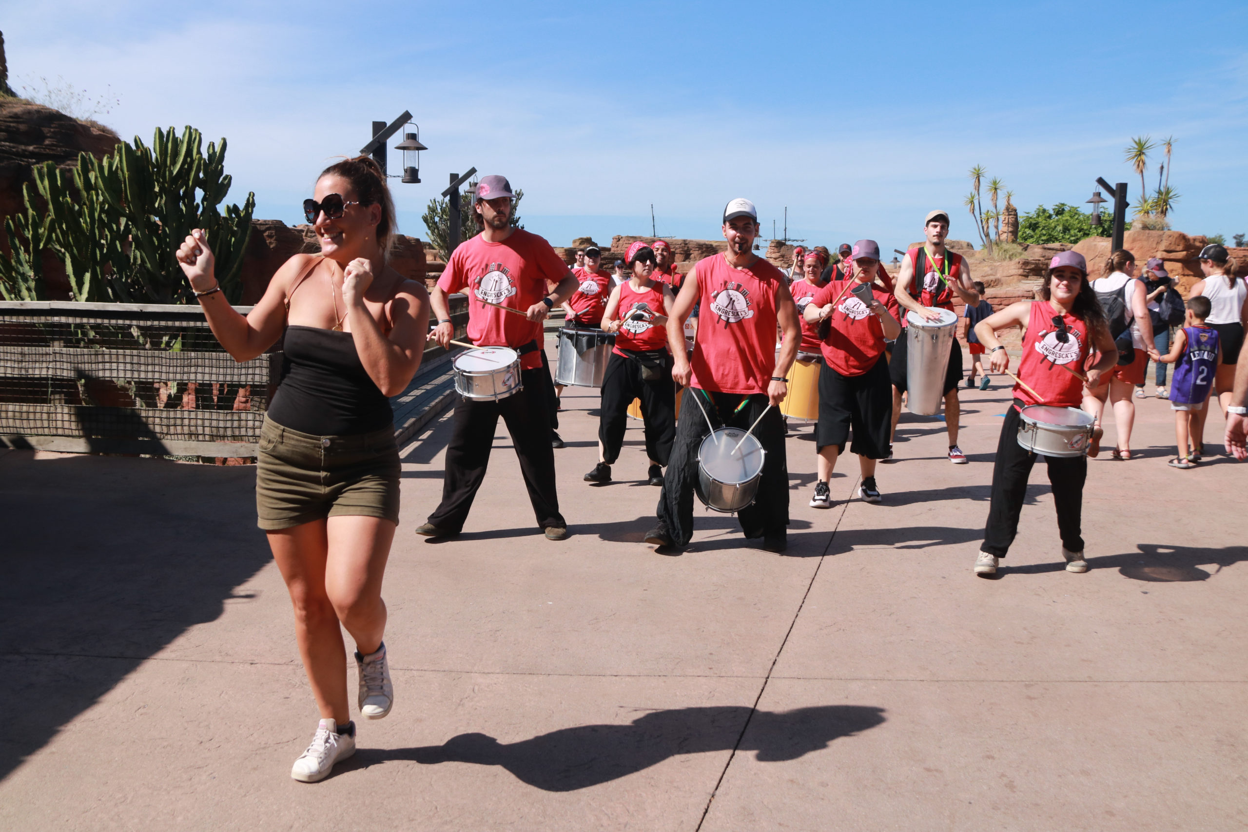
[[(270, 561), (256, 469), (0, 459), (0, 780)], [(106, 761), (105, 761), (105, 765)]]

